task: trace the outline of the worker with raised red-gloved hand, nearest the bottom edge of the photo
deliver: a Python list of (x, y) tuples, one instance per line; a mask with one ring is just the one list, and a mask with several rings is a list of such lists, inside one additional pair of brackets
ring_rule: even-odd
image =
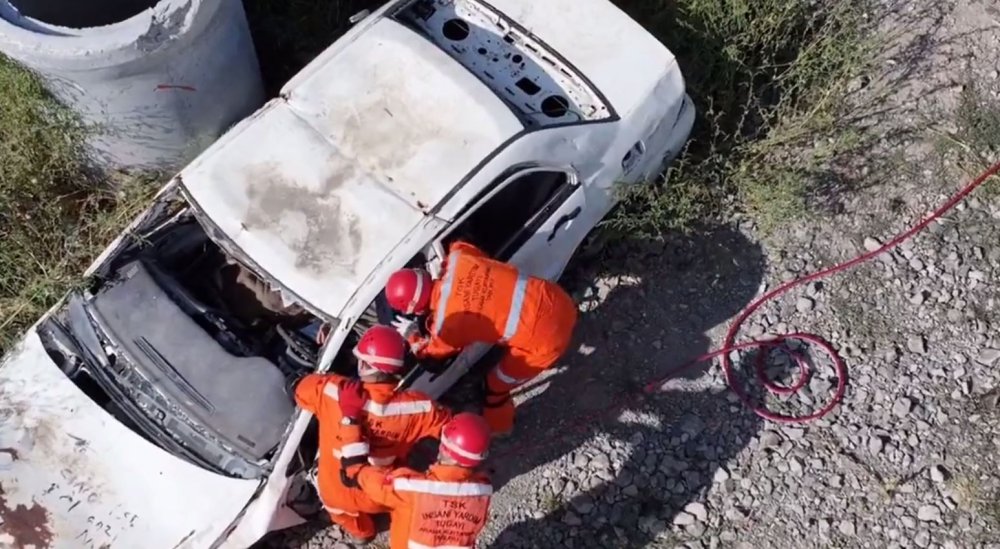
[(486, 459), (490, 428), (477, 415), (456, 415), (441, 432), (437, 463), (426, 473), (373, 467), (366, 459), (360, 418), (366, 395), (360, 384), (341, 385), (340, 436), (344, 484), (357, 485), (391, 509), (390, 549), (472, 549), (489, 517), (493, 486), (475, 468)]

